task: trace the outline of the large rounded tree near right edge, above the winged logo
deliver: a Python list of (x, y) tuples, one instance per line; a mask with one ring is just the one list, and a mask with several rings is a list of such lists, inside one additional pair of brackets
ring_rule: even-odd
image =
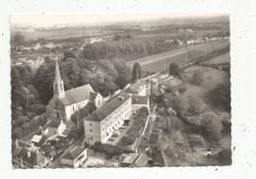
[(201, 125), (209, 138), (219, 140), (223, 125), (219, 117), (214, 112), (205, 112), (202, 115)]

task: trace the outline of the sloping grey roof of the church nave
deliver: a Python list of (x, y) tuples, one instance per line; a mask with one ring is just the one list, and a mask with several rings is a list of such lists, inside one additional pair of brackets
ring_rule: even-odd
[(91, 92), (95, 92), (95, 90), (88, 84), (82, 87), (78, 87), (76, 89), (66, 90), (65, 97), (60, 98), (60, 100), (65, 106), (71, 105), (86, 99), (90, 99)]

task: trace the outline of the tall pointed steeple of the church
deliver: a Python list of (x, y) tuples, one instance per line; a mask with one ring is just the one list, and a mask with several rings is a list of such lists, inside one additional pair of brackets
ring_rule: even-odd
[(56, 63), (55, 63), (55, 80), (53, 83), (53, 89), (54, 89), (54, 95), (56, 95), (58, 98), (65, 97), (64, 84), (60, 77), (58, 60), (56, 60)]

